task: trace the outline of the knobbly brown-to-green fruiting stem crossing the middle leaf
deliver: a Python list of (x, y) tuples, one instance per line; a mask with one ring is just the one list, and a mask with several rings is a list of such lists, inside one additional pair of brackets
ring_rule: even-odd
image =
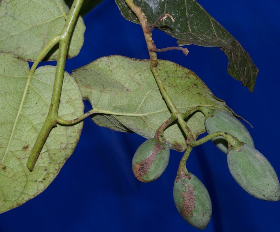
[(144, 36), (145, 36), (145, 40), (146, 40), (147, 47), (148, 47), (148, 51), (149, 51), (149, 55), (150, 55), (151, 71), (152, 71), (152, 73), (155, 77), (155, 80), (156, 80), (157, 85), (160, 89), (162, 97), (164, 98), (168, 108), (171, 111), (171, 117), (176, 118), (178, 120), (178, 123), (181, 126), (183, 132), (185, 133), (186, 137), (193, 140), (194, 137), (193, 137), (192, 132), (190, 131), (189, 127), (186, 125), (186, 122), (183, 118), (183, 114), (181, 112), (179, 112), (179, 110), (176, 108), (176, 105), (174, 104), (172, 98), (170, 97), (170, 95), (166, 91), (166, 89), (164, 87), (164, 83), (163, 83), (162, 79), (160, 78), (160, 74), (159, 74), (158, 69), (157, 69), (157, 54), (155, 53), (156, 46), (153, 42), (152, 33), (150, 32), (151, 30), (150, 30), (150, 27), (148, 25), (145, 14), (141, 10), (141, 7), (138, 7), (133, 3), (133, 0), (125, 0), (125, 2), (127, 3), (127, 6), (129, 6), (129, 8), (137, 16), (137, 18), (139, 19), (139, 22), (142, 26)]

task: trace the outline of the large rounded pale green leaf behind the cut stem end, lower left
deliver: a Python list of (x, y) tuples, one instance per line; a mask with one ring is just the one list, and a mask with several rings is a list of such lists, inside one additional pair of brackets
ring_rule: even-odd
[[(28, 79), (28, 63), (0, 54), (0, 212), (37, 196), (53, 181), (74, 151), (83, 123), (54, 127), (33, 172), (26, 167), (48, 114), (55, 76), (54, 66), (36, 69)], [(26, 93), (24, 97), (24, 93)], [(74, 119), (83, 114), (81, 90), (65, 72), (59, 115)]]

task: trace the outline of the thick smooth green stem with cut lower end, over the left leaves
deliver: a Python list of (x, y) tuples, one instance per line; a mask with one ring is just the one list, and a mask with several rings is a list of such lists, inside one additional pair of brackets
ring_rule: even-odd
[[(30, 156), (27, 160), (27, 167), (30, 171), (34, 169), (36, 160), (38, 159), (38, 156), (43, 148), (43, 145), (46, 142), (46, 139), (50, 133), (50, 130), (53, 126), (57, 123), (58, 118), (58, 107), (59, 107), (59, 101), (60, 101), (60, 95), (62, 90), (62, 83), (63, 83), (63, 77), (64, 77), (64, 67), (67, 57), (67, 50), (68, 50), (68, 44), (71, 38), (72, 31), (74, 29), (76, 20), (79, 16), (79, 11), (81, 9), (81, 6), (83, 4), (83, 0), (74, 0), (72, 7), (69, 11), (69, 14), (67, 16), (67, 20), (64, 24), (64, 28), (62, 30), (62, 33), (59, 36), (56, 36), (55, 39), (53, 39), (53, 43), (57, 42), (59, 40), (59, 51), (58, 51), (58, 59), (57, 59), (57, 67), (55, 70), (55, 81), (53, 85), (53, 94), (52, 99), (50, 103), (49, 113), (46, 117), (46, 120), (42, 126), (42, 129), (36, 139), (36, 142), (34, 144), (34, 147), (31, 150)], [(52, 44), (52, 43), (51, 43)], [(51, 46), (50, 43), (48, 43), (48, 47), (43, 50), (49, 50)], [(40, 57), (36, 59), (36, 62), (38, 60), (41, 60), (43, 58), (42, 52), (40, 53)], [(33, 64), (32, 68), (35, 70), (35, 63)], [(32, 69), (32, 70), (33, 70)], [(34, 71), (33, 71), (34, 72)]]

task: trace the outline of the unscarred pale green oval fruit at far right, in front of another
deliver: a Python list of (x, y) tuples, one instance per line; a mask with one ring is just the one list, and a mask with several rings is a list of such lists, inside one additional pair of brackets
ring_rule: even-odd
[(227, 165), (236, 182), (249, 194), (266, 201), (278, 201), (278, 177), (269, 161), (255, 148), (244, 144), (240, 151), (231, 150)]

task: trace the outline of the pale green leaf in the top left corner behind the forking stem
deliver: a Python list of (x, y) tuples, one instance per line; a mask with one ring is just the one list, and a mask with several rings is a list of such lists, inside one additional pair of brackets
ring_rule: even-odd
[[(60, 34), (69, 13), (62, 0), (0, 1), (0, 52), (12, 53), (34, 61), (43, 47)], [(84, 41), (85, 25), (81, 17), (76, 23), (68, 58), (77, 56)], [(45, 59), (57, 60), (58, 45)]]

